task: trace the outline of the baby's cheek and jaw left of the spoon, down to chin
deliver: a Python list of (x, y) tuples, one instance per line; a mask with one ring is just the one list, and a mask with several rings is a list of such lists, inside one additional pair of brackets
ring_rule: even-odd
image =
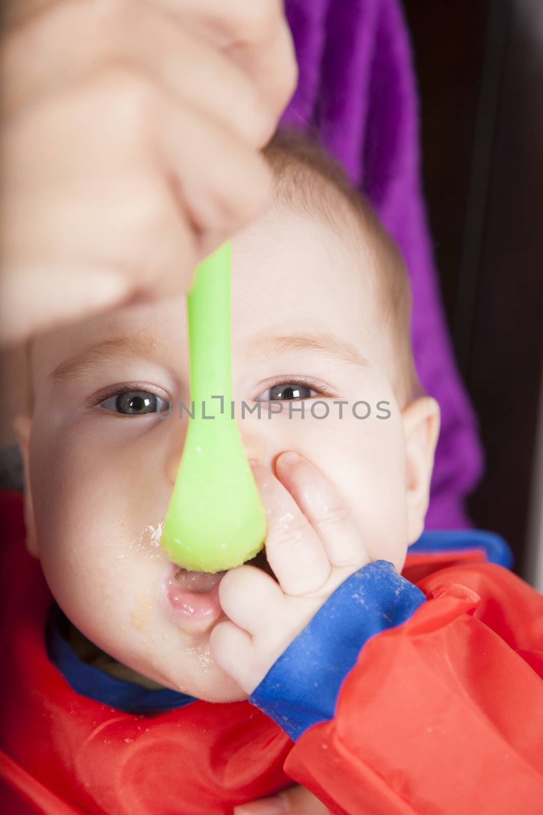
[[(100, 426), (99, 424), (97, 425)], [(46, 581), (68, 618), (120, 663), (209, 701), (245, 698), (160, 608), (160, 547), (171, 483), (151, 432), (126, 445), (92, 432), (33, 428), (30, 478)]]

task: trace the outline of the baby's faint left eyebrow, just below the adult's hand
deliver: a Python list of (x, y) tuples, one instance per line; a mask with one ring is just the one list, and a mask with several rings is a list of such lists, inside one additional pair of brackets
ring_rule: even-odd
[(49, 377), (66, 381), (72, 377), (80, 377), (104, 359), (116, 359), (119, 356), (129, 359), (134, 357), (151, 359), (158, 355), (158, 351), (159, 343), (151, 335), (136, 333), (130, 337), (113, 337), (77, 350), (75, 354), (57, 365)]

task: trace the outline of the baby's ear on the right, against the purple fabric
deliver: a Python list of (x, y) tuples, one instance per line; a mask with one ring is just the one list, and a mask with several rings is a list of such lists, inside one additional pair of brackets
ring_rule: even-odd
[(423, 534), (430, 500), (431, 472), (440, 433), (440, 407), (436, 399), (422, 396), (410, 402), (401, 416), (405, 434), (408, 543), (414, 544)]

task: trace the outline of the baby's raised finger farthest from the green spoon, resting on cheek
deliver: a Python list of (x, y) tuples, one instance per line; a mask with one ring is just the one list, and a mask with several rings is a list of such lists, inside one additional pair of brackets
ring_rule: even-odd
[(332, 566), (357, 566), (369, 560), (357, 522), (331, 482), (299, 453), (276, 461), (278, 477), (316, 531)]

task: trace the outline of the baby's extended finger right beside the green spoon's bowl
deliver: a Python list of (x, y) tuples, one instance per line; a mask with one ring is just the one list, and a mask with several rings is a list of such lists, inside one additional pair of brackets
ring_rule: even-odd
[(266, 509), (266, 557), (279, 585), (293, 597), (316, 592), (331, 572), (317, 533), (269, 469), (253, 465), (252, 474)]

